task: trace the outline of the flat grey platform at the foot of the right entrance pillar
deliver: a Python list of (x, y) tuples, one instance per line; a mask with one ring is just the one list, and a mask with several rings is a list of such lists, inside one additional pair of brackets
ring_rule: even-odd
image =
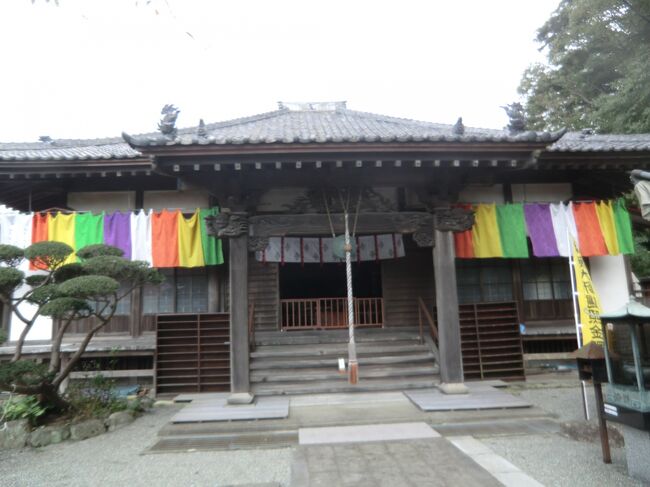
[(531, 407), (527, 401), (485, 385), (465, 384), (467, 394), (444, 394), (438, 389), (404, 391), (422, 411), (460, 411), (467, 409), (510, 409)]

